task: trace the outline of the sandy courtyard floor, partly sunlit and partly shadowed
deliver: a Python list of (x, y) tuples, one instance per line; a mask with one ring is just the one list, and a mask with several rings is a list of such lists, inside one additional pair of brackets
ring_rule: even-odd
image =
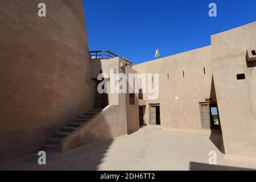
[[(209, 139), (209, 131), (143, 127), (109, 142), (81, 146), (67, 152), (47, 152), (47, 164), (39, 166), (37, 154), (2, 166), (3, 170), (240, 170), (256, 169), (256, 163), (226, 159)], [(209, 165), (216, 151), (217, 165)]]

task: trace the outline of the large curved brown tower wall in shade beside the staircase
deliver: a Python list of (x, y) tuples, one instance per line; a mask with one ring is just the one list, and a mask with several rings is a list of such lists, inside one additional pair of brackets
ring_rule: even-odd
[(1, 1), (0, 12), (2, 160), (39, 150), (88, 110), (90, 74), (82, 1)]

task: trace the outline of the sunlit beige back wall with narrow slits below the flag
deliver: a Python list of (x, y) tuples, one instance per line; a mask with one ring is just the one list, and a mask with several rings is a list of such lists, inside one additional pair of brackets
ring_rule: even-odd
[[(212, 88), (210, 56), (211, 49), (208, 46), (133, 66), (138, 73), (159, 73), (159, 98), (147, 100), (147, 94), (143, 95), (147, 100), (144, 115), (146, 123), (149, 123), (149, 104), (160, 104), (162, 126), (201, 129), (199, 102), (204, 102), (205, 98), (216, 100)], [(175, 100), (176, 96), (178, 100)]]

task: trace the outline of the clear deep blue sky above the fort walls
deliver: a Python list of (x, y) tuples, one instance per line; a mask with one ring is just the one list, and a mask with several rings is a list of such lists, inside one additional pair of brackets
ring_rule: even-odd
[[(217, 17), (208, 16), (210, 2)], [(255, 0), (84, 0), (89, 49), (134, 64), (210, 45), (210, 35), (256, 20)]]

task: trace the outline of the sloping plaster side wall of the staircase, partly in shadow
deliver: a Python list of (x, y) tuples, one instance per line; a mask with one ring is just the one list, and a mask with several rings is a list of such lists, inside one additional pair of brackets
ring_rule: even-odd
[(61, 151), (127, 134), (125, 94), (119, 94), (118, 105), (108, 105), (61, 142)]

